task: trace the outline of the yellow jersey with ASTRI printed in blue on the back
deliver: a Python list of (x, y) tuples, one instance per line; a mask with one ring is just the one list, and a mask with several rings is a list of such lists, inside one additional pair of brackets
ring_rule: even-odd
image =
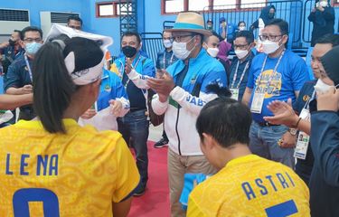
[(231, 160), (198, 184), (187, 216), (310, 216), (306, 184), (286, 165), (259, 156)]

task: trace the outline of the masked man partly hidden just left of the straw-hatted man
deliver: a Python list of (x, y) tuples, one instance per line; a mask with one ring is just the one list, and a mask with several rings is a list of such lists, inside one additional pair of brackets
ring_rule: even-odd
[[(165, 70), (168, 66), (172, 65), (174, 61), (178, 59), (174, 56), (172, 51), (173, 45), (173, 37), (172, 33), (163, 32), (163, 44), (164, 49), (157, 53), (156, 57), (156, 70)], [(155, 148), (167, 146), (168, 144), (168, 137), (166, 135), (165, 129), (163, 130), (163, 137), (155, 143)]]

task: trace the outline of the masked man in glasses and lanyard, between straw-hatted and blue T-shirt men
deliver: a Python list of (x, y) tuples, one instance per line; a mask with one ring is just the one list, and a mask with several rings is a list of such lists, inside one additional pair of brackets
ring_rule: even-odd
[(241, 101), (249, 78), (250, 64), (254, 57), (254, 53), (251, 51), (254, 47), (253, 33), (250, 31), (238, 32), (235, 35), (233, 47), (236, 56), (231, 63), (231, 98)]

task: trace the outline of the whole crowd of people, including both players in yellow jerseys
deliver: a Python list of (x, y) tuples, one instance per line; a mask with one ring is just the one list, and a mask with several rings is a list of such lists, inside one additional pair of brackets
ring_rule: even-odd
[[(309, 16), (330, 32), (314, 30), (314, 80), (272, 5), (250, 30), (221, 18), (218, 33), (179, 13), (155, 61), (127, 32), (108, 64), (112, 39), (78, 16), (44, 42), (39, 27), (15, 30), (0, 44), (0, 109), (20, 108), (0, 118), (0, 215), (127, 216), (147, 189), (151, 113), (164, 117), (154, 147), (168, 146), (171, 216), (339, 215), (339, 35), (324, 2)], [(185, 210), (187, 174), (205, 178)]]

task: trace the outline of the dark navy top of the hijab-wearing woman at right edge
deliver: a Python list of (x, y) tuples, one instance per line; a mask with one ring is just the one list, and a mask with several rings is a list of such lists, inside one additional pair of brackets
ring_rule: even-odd
[(309, 188), (311, 215), (339, 216), (339, 113), (311, 114), (311, 146), (315, 153)]

